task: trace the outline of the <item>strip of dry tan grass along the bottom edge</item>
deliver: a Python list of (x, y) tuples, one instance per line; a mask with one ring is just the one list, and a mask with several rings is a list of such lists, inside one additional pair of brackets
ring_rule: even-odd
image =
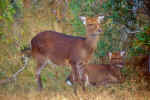
[(29, 91), (29, 92), (16, 92), (16, 93), (0, 93), (0, 100), (149, 100), (150, 92), (148, 91), (129, 91), (129, 90), (116, 90), (95, 89), (92, 91), (78, 91), (75, 96), (72, 91)]

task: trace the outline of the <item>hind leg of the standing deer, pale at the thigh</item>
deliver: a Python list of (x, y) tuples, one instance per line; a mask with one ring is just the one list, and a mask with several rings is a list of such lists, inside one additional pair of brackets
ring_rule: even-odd
[(41, 81), (41, 70), (47, 65), (47, 61), (45, 62), (38, 62), (38, 65), (37, 65), (37, 69), (36, 69), (36, 80), (37, 80), (37, 83), (38, 83), (38, 89), (41, 91), (42, 88), (43, 88), (43, 85), (42, 85), (42, 81)]

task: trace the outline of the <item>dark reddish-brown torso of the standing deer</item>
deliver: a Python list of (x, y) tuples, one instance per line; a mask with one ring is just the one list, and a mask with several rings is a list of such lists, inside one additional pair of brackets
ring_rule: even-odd
[[(54, 31), (45, 31), (38, 34), (31, 41), (32, 56), (35, 59), (50, 59), (57, 65), (65, 65), (66, 60), (73, 63), (77, 60), (91, 57), (94, 44), (88, 45), (86, 38), (73, 37)], [(95, 42), (97, 43), (97, 42)], [(87, 55), (88, 54), (88, 55)]]

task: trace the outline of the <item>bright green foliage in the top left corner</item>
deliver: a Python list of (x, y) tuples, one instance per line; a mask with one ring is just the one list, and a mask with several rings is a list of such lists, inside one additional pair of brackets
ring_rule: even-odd
[[(5, 24), (10, 26), (14, 22), (14, 15), (19, 14), (22, 8), (22, 0), (0, 0), (0, 32)], [(20, 12), (21, 13), (21, 12)]]

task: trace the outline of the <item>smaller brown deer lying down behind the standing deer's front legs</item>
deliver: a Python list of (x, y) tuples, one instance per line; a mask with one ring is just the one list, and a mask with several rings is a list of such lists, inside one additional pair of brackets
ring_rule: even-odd
[[(109, 53), (110, 64), (88, 64), (84, 68), (84, 85), (107, 85), (122, 81), (120, 69), (123, 67), (123, 56), (125, 52)], [(68, 85), (72, 85), (72, 74), (66, 79)]]

